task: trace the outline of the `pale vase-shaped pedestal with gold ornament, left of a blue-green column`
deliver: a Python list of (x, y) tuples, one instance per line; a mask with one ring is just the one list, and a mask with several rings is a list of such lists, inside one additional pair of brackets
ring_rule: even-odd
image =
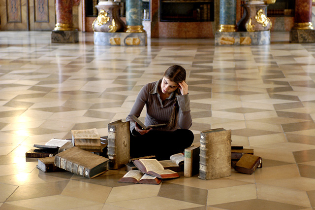
[(114, 1), (99, 1), (98, 16), (92, 24), (95, 32), (124, 32), (126, 25), (119, 17), (120, 5)]

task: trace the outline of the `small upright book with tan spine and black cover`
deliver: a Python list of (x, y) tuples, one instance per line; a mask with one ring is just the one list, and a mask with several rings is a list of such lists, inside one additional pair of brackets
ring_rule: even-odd
[(184, 176), (191, 177), (199, 173), (199, 146), (189, 146), (185, 149)]

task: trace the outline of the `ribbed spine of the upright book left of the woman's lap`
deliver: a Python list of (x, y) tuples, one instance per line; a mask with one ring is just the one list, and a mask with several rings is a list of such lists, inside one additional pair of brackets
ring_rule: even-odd
[(116, 162), (116, 126), (108, 125), (108, 144), (107, 144), (107, 151), (108, 151), (108, 168), (116, 170), (118, 169), (117, 162)]

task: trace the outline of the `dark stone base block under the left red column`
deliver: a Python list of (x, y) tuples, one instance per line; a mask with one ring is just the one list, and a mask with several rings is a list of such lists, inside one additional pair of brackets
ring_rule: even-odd
[(52, 31), (51, 42), (52, 43), (75, 43), (79, 41), (78, 30), (71, 31)]

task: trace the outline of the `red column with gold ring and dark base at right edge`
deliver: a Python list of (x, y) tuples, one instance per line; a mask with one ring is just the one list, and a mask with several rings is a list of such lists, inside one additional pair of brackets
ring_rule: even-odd
[(312, 24), (312, 0), (295, 0), (294, 26), (290, 31), (290, 42), (315, 42), (315, 30)]

